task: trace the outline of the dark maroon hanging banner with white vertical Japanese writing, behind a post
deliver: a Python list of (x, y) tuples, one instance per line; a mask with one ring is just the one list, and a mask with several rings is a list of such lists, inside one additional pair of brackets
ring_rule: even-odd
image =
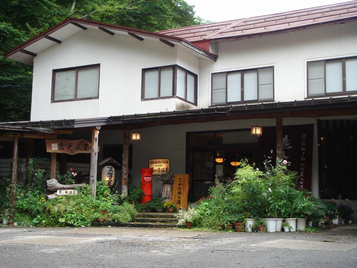
[[(275, 127), (264, 127), (264, 135), (259, 139), (259, 164), (263, 170), (264, 155), (276, 156)], [(288, 167), (298, 175), (298, 189), (311, 191), (313, 125), (283, 126), (283, 160), (291, 162)]]

